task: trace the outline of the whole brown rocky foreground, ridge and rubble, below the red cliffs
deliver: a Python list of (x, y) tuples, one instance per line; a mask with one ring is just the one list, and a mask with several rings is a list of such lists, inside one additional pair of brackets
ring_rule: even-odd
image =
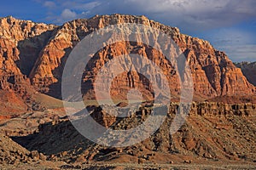
[[(0, 161), (3, 167), (37, 165), (74, 169), (104, 169), (106, 166), (137, 169), (133, 167), (135, 165), (131, 166), (134, 163), (138, 167), (166, 169), (199, 165), (213, 168), (217, 164), (230, 164), (234, 168), (256, 166), (256, 105), (193, 103), (184, 125), (170, 135), (177, 108), (175, 103), (170, 105), (166, 121), (148, 139), (123, 148), (104, 147), (85, 139), (65, 114), (55, 117), (54, 121), (45, 114), (51, 110), (44, 111), (43, 117), (37, 116), (38, 113), (17, 117), (1, 125), (2, 133), (9, 137), (1, 136)], [(105, 112), (94, 107), (90, 115), (102, 126), (129, 129), (142, 123), (150, 111), (150, 107), (142, 107), (133, 116), (109, 119)], [(32, 117), (33, 121), (45, 122), (40, 125), (31, 122), (33, 132), (26, 132), (26, 128), (20, 130), (19, 123), (27, 124)]]

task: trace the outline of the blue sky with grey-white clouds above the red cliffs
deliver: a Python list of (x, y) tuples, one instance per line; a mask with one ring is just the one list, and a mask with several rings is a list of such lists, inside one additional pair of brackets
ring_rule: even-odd
[(95, 14), (137, 14), (208, 40), (233, 61), (256, 61), (255, 0), (9, 0), (0, 16), (61, 25)]

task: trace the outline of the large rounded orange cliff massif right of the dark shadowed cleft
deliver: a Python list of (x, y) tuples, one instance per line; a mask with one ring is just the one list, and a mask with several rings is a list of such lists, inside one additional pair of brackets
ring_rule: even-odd
[[(89, 20), (73, 20), (61, 26), (38, 56), (36, 65), (30, 74), (32, 82), (38, 86), (44, 84), (46, 87), (58, 84), (61, 82), (61, 71), (67, 55), (84, 36), (104, 26), (121, 23), (139, 23), (153, 26), (169, 34), (189, 61), (195, 83), (195, 94), (201, 94), (207, 98), (220, 95), (253, 94), (253, 86), (243, 77), (240, 69), (232, 64), (226, 54), (214, 49), (209, 42), (196, 37), (189, 37), (180, 33), (175, 27), (161, 25), (153, 20), (148, 20), (144, 16), (120, 14), (96, 16)], [(102, 68), (103, 63), (119, 54), (130, 53), (142, 54), (148, 59), (152, 59), (156, 64), (161, 65), (161, 69), (166, 73), (173, 72), (172, 65), (168, 65), (166, 59), (160, 56), (156, 50), (139, 43), (120, 42), (103, 48), (92, 58), (93, 61), (90, 62), (91, 65), (88, 65), (88, 67), (94, 68), (94, 70), (84, 73), (87, 76), (90, 75), (88, 76), (90, 78), (84, 77), (84, 94), (90, 94), (88, 87), (91, 87), (96, 72)], [(152, 74), (150, 71), (148, 73)], [(177, 91), (178, 84), (175, 83), (178, 82), (177, 76), (170, 74), (168, 76), (172, 80), (173, 91)], [(141, 75), (131, 74), (131, 77), (134, 79), (132, 82), (143, 83)], [(124, 84), (129, 84), (127, 74), (117, 78), (116, 82), (120, 82), (121, 79)], [(120, 84), (119, 86), (113, 84), (113, 88), (116, 87), (120, 87)], [(135, 88), (138, 87), (140, 87), (139, 83)], [(113, 92), (113, 94), (118, 93)]]

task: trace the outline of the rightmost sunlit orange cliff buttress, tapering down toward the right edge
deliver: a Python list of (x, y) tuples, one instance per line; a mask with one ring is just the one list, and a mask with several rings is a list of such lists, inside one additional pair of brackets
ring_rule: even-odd
[(181, 35), (175, 39), (189, 60), (195, 93), (208, 96), (252, 94), (253, 86), (226, 54), (204, 40)]

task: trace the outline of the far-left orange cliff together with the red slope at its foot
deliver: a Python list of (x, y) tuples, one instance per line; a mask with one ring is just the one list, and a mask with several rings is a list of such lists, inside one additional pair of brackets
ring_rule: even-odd
[(28, 76), (54, 29), (53, 25), (17, 20), (11, 16), (0, 18), (2, 114), (19, 114), (27, 110), (26, 100), (30, 100), (33, 91)]

